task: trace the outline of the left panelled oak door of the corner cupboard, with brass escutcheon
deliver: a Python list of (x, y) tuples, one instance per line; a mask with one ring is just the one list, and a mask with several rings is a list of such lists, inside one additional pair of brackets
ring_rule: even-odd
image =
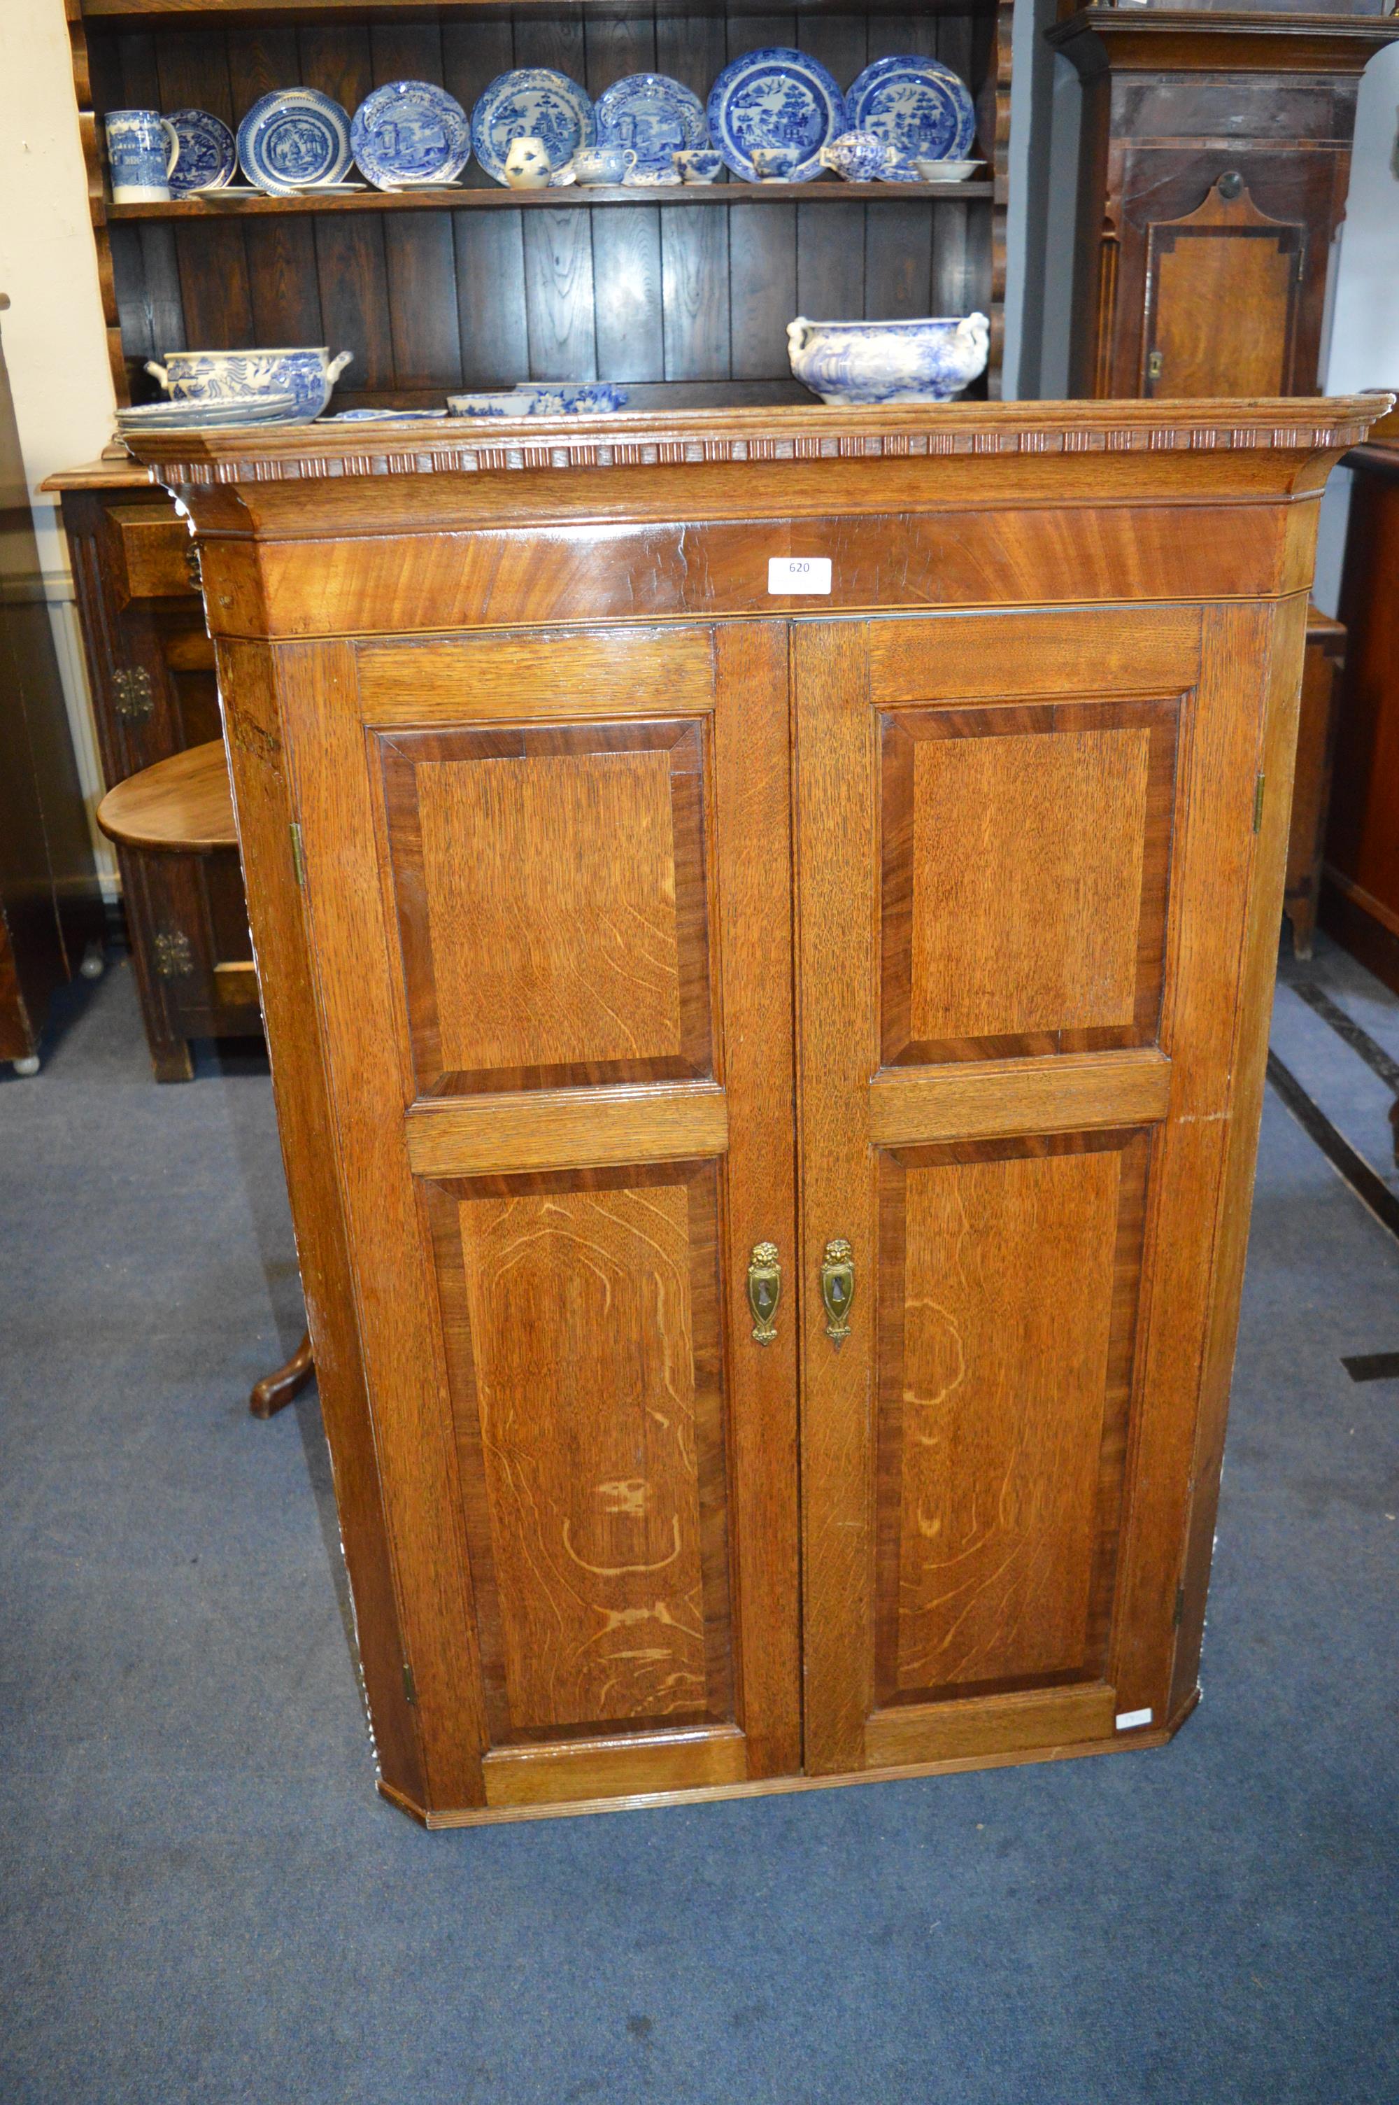
[(785, 627), (280, 686), (431, 1810), (793, 1772)]

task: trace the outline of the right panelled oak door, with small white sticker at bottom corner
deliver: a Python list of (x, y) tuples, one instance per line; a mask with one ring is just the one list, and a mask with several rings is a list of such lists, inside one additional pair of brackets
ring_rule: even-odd
[(1168, 1724), (1271, 619), (793, 625), (812, 1772)]

